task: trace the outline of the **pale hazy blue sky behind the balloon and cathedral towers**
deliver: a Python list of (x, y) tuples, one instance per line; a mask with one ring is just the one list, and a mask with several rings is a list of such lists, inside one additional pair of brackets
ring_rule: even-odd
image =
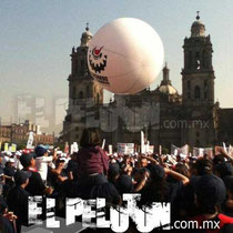
[(213, 43), (215, 100), (233, 108), (232, 0), (0, 0), (1, 123), (26, 120), (36, 101), (34, 123), (48, 132), (61, 130), (70, 53), (80, 45), (87, 22), (93, 34), (122, 17), (151, 24), (163, 41), (172, 84), (181, 93), (183, 39), (190, 37), (197, 10)]

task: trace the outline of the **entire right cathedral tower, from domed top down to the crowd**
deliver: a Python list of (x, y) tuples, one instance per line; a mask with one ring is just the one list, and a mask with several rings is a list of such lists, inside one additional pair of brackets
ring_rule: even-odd
[(184, 125), (182, 144), (210, 146), (216, 141), (216, 111), (214, 105), (214, 70), (212, 65), (211, 37), (205, 26), (192, 23), (191, 36), (184, 39), (184, 68), (182, 69), (182, 105)]

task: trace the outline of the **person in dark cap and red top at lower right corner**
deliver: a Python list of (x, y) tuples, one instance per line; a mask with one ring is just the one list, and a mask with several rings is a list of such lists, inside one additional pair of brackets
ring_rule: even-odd
[[(201, 176), (195, 183), (195, 204), (200, 215), (192, 217), (197, 221), (199, 226), (203, 226), (204, 221), (219, 222), (219, 227), (214, 232), (233, 232), (233, 217), (221, 213), (221, 204), (226, 197), (226, 189), (223, 181), (213, 174)], [(209, 232), (210, 229), (204, 232)]]

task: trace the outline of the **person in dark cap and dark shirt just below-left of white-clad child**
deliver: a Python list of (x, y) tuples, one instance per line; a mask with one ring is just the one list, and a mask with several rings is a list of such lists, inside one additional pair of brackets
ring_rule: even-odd
[(49, 186), (47, 188), (44, 185), (40, 173), (37, 171), (33, 154), (22, 154), (20, 156), (20, 162), (24, 171), (31, 172), (31, 176), (29, 178), (29, 184), (27, 185), (26, 190), (32, 195), (51, 194), (52, 189)]

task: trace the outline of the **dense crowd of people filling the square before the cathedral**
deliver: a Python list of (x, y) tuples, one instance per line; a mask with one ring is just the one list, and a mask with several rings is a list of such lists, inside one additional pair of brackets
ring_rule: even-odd
[[(28, 154), (2, 152), (0, 232), (20, 233), (28, 225), (30, 195), (55, 197), (55, 214), (64, 216), (65, 197), (104, 197), (109, 207), (123, 205), (123, 193), (140, 193), (139, 205), (171, 203), (172, 223), (220, 222), (220, 229), (194, 232), (233, 232), (233, 158), (224, 150), (214, 158), (108, 154), (101, 143), (98, 130), (87, 129), (79, 152), (72, 154), (42, 145)], [(136, 232), (133, 222), (128, 231)]]

